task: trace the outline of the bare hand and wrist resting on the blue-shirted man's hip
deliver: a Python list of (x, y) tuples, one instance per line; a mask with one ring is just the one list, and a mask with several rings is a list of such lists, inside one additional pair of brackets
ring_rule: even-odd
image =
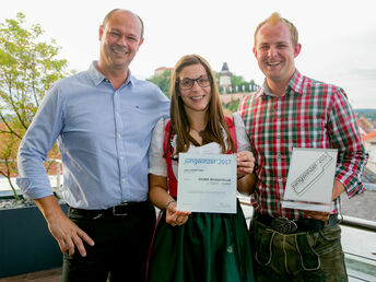
[(77, 246), (81, 256), (85, 257), (86, 250), (82, 239), (90, 246), (94, 246), (94, 240), (67, 218), (55, 197), (48, 196), (35, 199), (35, 203), (39, 208), (43, 216), (45, 216), (48, 230), (58, 242), (61, 252), (73, 256), (74, 246)]

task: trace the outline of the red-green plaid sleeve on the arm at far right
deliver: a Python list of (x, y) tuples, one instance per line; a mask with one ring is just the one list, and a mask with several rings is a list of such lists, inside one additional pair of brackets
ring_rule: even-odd
[(331, 105), (328, 130), (333, 148), (339, 151), (336, 179), (345, 187), (348, 197), (352, 198), (365, 189), (362, 174), (368, 154), (362, 143), (355, 114), (342, 89), (338, 89), (332, 95)]

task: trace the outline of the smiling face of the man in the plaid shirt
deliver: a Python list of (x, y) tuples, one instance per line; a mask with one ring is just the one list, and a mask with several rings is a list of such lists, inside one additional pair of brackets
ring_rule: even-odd
[(295, 71), (294, 59), (299, 51), (301, 45), (293, 45), (285, 23), (266, 23), (259, 30), (254, 54), (269, 86), (287, 86)]

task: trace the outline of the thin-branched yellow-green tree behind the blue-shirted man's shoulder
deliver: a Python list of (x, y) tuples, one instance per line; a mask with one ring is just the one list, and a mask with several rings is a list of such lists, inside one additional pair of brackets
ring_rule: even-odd
[[(67, 60), (58, 59), (56, 42), (44, 42), (40, 25), (26, 27), (25, 15), (0, 23), (0, 174), (16, 175), (16, 150), (42, 98), (63, 78)], [(51, 152), (56, 155), (55, 152)]]

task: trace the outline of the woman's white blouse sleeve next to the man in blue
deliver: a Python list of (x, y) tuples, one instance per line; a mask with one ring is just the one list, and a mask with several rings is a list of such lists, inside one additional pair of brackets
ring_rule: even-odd
[(150, 174), (167, 177), (167, 164), (163, 157), (165, 120), (161, 118), (153, 130), (152, 141), (149, 149), (149, 169)]

